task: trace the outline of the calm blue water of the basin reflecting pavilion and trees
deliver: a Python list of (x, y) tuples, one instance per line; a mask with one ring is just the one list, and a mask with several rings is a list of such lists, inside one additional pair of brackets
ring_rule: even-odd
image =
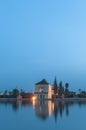
[(0, 102), (1, 130), (86, 130), (86, 102)]

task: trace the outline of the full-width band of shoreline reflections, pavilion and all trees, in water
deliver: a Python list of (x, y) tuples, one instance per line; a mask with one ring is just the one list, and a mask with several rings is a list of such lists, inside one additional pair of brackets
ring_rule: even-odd
[(17, 111), (21, 107), (34, 107), (36, 116), (41, 119), (47, 119), (51, 114), (53, 114), (55, 122), (59, 117), (62, 117), (63, 114), (69, 116), (69, 108), (77, 104), (80, 108), (82, 105), (86, 105), (86, 102), (64, 102), (64, 101), (50, 101), (50, 100), (23, 100), (22, 102), (17, 101), (8, 101), (4, 100), (0, 102), (5, 106), (11, 105), (13, 111)]

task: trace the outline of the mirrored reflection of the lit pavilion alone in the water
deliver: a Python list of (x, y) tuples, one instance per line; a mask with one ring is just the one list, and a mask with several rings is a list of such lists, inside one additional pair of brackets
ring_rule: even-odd
[(46, 119), (52, 113), (52, 102), (39, 100), (35, 102), (35, 114), (36, 116)]

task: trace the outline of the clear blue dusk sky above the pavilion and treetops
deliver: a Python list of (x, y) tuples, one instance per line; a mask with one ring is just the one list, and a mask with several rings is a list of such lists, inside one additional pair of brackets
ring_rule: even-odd
[(86, 0), (0, 0), (0, 91), (55, 76), (86, 90)]

